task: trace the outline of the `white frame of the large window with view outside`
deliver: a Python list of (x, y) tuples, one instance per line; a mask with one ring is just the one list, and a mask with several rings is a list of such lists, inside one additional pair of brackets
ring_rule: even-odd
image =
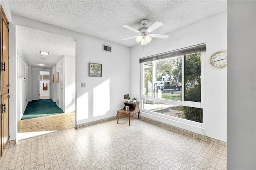
[[(201, 52), (201, 51), (198, 51), (198, 52)], [(189, 55), (189, 54), (186, 54), (186, 55)], [(205, 99), (205, 96), (204, 96), (204, 89), (205, 89), (205, 76), (204, 76), (204, 72), (205, 72), (205, 56), (206, 56), (206, 51), (202, 51), (201, 52), (201, 102), (195, 102), (195, 101), (184, 101), (184, 88), (185, 88), (185, 85), (184, 85), (184, 56), (186, 55), (182, 55), (182, 90), (181, 90), (181, 95), (182, 95), (182, 99), (181, 101), (172, 101), (172, 100), (167, 100), (167, 99), (159, 99), (159, 98), (155, 98), (154, 97), (154, 88), (152, 88), (152, 97), (148, 97), (148, 96), (144, 96), (144, 63), (148, 62), (148, 61), (145, 61), (145, 62), (141, 62), (140, 63), (140, 77), (141, 77), (141, 90), (140, 90), (140, 98), (141, 98), (141, 111), (144, 112), (144, 113), (149, 113), (149, 114), (152, 114), (152, 115), (156, 115), (158, 117), (162, 117), (162, 118), (166, 118), (166, 119), (172, 119), (174, 121), (177, 121), (177, 122), (182, 122), (182, 123), (187, 123), (189, 125), (195, 125), (195, 126), (198, 126), (198, 125), (204, 125), (205, 123), (205, 108), (204, 108), (204, 99)], [(174, 56), (171, 56), (171, 57), (174, 57)], [(171, 58), (170, 57), (170, 58)], [(152, 87), (154, 87), (154, 67), (152, 67)], [(173, 104), (173, 105), (177, 105), (177, 106), (188, 106), (188, 107), (195, 107), (195, 108), (200, 108), (200, 109), (203, 109), (203, 117), (202, 117), (202, 121), (203, 123), (199, 123), (199, 122), (195, 122), (195, 121), (190, 121), (188, 119), (183, 119), (183, 118), (180, 118), (180, 117), (175, 117), (175, 116), (171, 116), (171, 115), (165, 115), (165, 114), (162, 114), (162, 113), (157, 113), (157, 112), (154, 112), (154, 111), (148, 111), (148, 110), (145, 110), (144, 109), (144, 100), (148, 100), (148, 101), (156, 101), (156, 102), (161, 102), (161, 103), (170, 103), (170, 104)]]

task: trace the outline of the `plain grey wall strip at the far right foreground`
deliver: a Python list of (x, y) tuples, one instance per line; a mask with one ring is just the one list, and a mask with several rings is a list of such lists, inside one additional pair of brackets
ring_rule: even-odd
[[(256, 169), (256, 1), (228, 1), (227, 169)], [(241, 88), (240, 82), (246, 84)]]

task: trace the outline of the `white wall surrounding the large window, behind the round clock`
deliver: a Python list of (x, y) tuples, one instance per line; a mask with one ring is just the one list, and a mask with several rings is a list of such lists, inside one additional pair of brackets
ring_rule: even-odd
[[(164, 27), (164, 25), (163, 25)], [(140, 101), (140, 63), (139, 58), (172, 51), (192, 45), (206, 43), (205, 57), (202, 58), (202, 81), (204, 82), (202, 107), (203, 124), (206, 136), (226, 141), (226, 93), (227, 93), (227, 68), (214, 69), (209, 64), (210, 56), (217, 51), (227, 51), (227, 13), (220, 14), (192, 26), (170, 34), (168, 39), (153, 39), (145, 46), (136, 45), (131, 48), (130, 87), (131, 95)], [(187, 124), (184, 119), (163, 119), (142, 112), (142, 116), (156, 119), (192, 132), (204, 134), (200, 123)], [(182, 122), (182, 123), (181, 123)]]

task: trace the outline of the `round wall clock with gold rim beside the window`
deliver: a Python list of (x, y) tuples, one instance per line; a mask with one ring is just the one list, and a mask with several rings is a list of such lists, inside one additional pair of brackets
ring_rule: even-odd
[(227, 67), (228, 54), (227, 51), (218, 51), (210, 57), (210, 65), (217, 69)]

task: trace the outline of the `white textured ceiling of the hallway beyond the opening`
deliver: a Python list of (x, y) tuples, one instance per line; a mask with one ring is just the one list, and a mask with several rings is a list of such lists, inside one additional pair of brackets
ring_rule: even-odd
[[(17, 43), (28, 65), (52, 68), (64, 56), (75, 56), (75, 41), (71, 38), (17, 26)], [(39, 51), (49, 52), (42, 55)]]

